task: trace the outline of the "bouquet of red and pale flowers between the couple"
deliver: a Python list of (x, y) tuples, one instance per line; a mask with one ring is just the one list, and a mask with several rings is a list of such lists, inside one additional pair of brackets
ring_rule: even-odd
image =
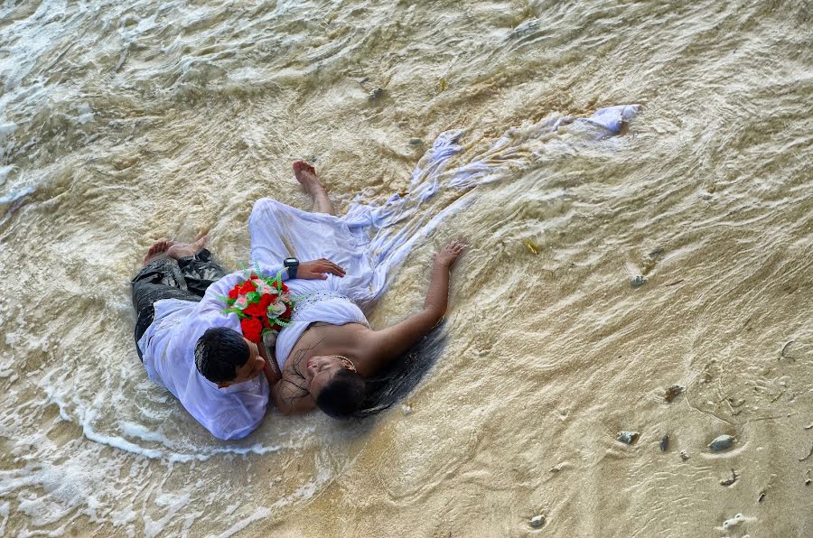
[(223, 311), (238, 315), (246, 339), (256, 344), (266, 340), (271, 345), (279, 331), (291, 324), (294, 301), (282, 282), (282, 272), (274, 278), (263, 278), (258, 273), (247, 271), (246, 280), (237, 283), (228, 297), (221, 297), (229, 305)]

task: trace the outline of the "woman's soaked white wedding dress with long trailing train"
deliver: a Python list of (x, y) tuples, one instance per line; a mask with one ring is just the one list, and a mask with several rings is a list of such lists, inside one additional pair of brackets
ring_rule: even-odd
[(300, 261), (327, 258), (347, 271), (343, 278), (331, 274), (327, 280), (295, 279), (287, 283), (292, 295), (306, 299), (297, 303), (293, 323), (280, 331), (276, 340), (280, 368), (304, 330), (314, 322), (369, 325), (363, 311), (369, 310), (384, 292), (390, 270), (417, 240), (426, 237), (466, 201), (459, 199), (460, 203), (435, 216), (418, 212), (438, 189), (470, 189), (494, 181), (518, 144), (555, 133), (565, 125), (588, 139), (619, 134), (639, 110), (638, 105), (631, 105), (602, 108), (588, 118), (549, 116), (535, 125), (509, 130), (489, 152), (449, 171), (444, 170), (444, 165), (461, 150), (457, 140), (462, 131), (447, 131), (418, 162), (406, 196), (396, 194), (383, 204), (357, 200), (343, 217), (310, 213), (273, 199), (257, 200), (248, 220), (252, 263), (277, 267), (289, 256)]

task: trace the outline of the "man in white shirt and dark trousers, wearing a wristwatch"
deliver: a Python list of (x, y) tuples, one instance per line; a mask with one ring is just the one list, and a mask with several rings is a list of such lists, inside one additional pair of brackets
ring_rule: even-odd
[[(265, 348), (243, 338), (238, 317), (222, 312), (226, 305), (220, 298), (242, 274), (227, 275), (203, 248), (206, 239), (159, 241), (150, 247), (131, 283), (135, 345), (150, 379), (178, 398), (212, 435), (241, 439), (262, 422), (269, 382), (276, 382), (279, 373)], [(280, 271), (283, 280), (344, 276), (341, 267), (326, 259), (299, 263), (288, 258), (267, 274)], [(196, 365), (199, 340), (208, 342), (210, 353)], [(216, 371), (220, 382), (202, 376), (201, 368), (210, 378)]]

